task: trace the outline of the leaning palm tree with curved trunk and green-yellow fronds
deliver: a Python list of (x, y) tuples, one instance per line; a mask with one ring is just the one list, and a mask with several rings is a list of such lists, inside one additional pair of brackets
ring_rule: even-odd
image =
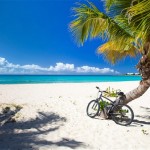
[(70, 29), (78, 44), (88, 38), (106, 41), (98, 48), (108, 61), (141, 55), (139, 86), (126, 93), (125, 104), (143, 95), (150, 86), (150, 0), (105, 0), (105, 13), (93, 3), (78, 3)]

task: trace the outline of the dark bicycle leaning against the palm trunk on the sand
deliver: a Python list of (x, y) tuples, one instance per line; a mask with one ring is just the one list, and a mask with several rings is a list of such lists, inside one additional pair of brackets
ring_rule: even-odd
[[(88, 103), (86, 112), (87, 115), (91, 118), (94, 118), (101, 114), (105, 113), (108, 118), (111, 118), (116, 124), (127, 126), (130, 125), (134, 119), (134, 113), (130, 106), (122, 104), (121, 102), (116, 104), (115, 101), (112, 101), (108, 97), (104, 96), (103, 93), (106, 91), (101, 91), (99, 87), (96, 87), (99, 91), (99, 97), (95, 100), (92, 100)], [(125, 96), (123, 92), (119, 91), (116, 93), (118, 96)], [(104, 99), (107, 101), (104, 101)]]

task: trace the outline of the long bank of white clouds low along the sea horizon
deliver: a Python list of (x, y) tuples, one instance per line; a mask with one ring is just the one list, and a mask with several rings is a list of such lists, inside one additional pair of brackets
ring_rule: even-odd
[(75, 67), (74, 64), (62, 62), (47, 68), (35, 64), (19, 65), (10, 63), (5, 58), (0, 57), (0, 74), (119, 74), (119, 72), (110, 68)]

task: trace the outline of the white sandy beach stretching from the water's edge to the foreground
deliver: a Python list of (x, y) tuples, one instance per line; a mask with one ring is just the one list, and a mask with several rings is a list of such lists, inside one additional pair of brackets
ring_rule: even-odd
[[(0, 150), (149, 150), (150, 90), (129, 103), (130, 126), (86, 115), (95, 86), (128, 92), (138, 82), (0, 85), (0, 104), (19, 104), (17, 122), (0, 126)], [(2, 106), (2, 105), (1, 105)], [(2, 114), (0, 114), (2, 120)]]

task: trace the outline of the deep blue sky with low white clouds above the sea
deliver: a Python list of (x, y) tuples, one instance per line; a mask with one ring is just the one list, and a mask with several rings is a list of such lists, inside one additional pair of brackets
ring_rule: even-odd
[[(85, 2), (83, 0), (78, 0)], [(111, 65), (101, 39), (78, 47), (69, 31), (77, 0), (0, 0), (0, 73), (116, 74), (137, 72), (139, 58)], [(103, 10), (100, 0), (93, 2)]]

